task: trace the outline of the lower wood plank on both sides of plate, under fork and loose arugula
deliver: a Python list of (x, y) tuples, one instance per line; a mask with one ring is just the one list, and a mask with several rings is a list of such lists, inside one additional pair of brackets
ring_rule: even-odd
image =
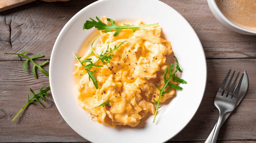
[[(41, 60), (37, 62), (43, 62)], [(49, 86), (49, 79), (38, 72), (38, 80), (31, 72), (22, 69), (23, 61), (0, 61), (0, 142), (87, 142), (64, 121), (56, 108), (52, 95), (42, 102), (33, 103), (19, 117), (11, 120), (27, 102), (29, 88), (34, 91)], [(238, 66), (239, 65), (239, 66)], [(249, 90), (243, 102), (232, 113), (220, 130), (219, 140), (256, 140), (256, 59), (207, 59), (208, 75), (203, 101), (191, 122), (171, 141), (204, 141), (218, 120), (218, 109), (213, 101), (229, 68), (247, 71)], [(48, 71), (49, 65), (44, 69)], [(29, 130), (28, 130), (29, 129)]]

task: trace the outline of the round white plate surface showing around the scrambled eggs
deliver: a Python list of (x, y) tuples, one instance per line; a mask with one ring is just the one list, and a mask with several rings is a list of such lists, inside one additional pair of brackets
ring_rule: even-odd
[[(155, 123), (147, 114), (138, 127), (116, 128), (99, 124), (76, 102), (73, 51), (95, 28), (83, 30), (89, 18), (106, 16), (114, 21), (141, 20), (159, 23), (166, 40), (182, 67), (183, 90), (163, 104)], [(173, 8), (157, 0), (100, 0), (79, 11), (61, 30), (50, 61), (50, 85), (54, 102), (65, 121), (76, 133), (91, 142), (165, 142), (177, 135), (195, 115), (206, 85), (206, 60), (202, 44), (190, 24)]]

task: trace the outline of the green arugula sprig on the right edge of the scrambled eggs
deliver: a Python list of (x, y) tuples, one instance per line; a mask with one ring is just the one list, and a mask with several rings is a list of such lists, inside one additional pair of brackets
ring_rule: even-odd
[[(174, 57), (175, 57), (175, 56), (174, 56)], [(175, 89), (179, 89), (179, 90), (182, 89), (182, 87), (176, 86), (175, 84), (170, 84), (171, 78), (173, 78), (173, 81), (176, 80), (177, 82), (180, 82), (180, 83), (182, 83), (182, 84), (187, 83), (185, 80), (180, 79), (179, 77), (176, 77), (176, 76), (175, 76), (175, 73), (176, 73), (177, 71), (182, 72), (182, 71), (181, 71), (181, 68), (180, 68), (180, 66), (179, 66), (178, 60), (177, 60), (176, 57), (175, 57), (175, 61), (176, 61), (176, 71), (174, 71), (174, 72), (172, 73), (172, 69), (173, 69), (174, 64), (170, 64), (170, 67), (169, 67), (169, 74), (170, 74), (170, 76), (169, 76), (168, 79), (166, 79), (167, 72), (168, 72), (168, 67), (164, 70), (164, 86), (162, 87), (162, 89), (158, 88), (158, 87), (155, 85), (155, 87), (158, 88), (158, 90), (159, 90), (160, 93), (159, 93), (158, 101), (156, 101), (155, 99), (153, 99), (154, 102), (157, 103), (157, 108), (156, 108), (155, 116), (154, 116), (154, 119), (153, 119), (153, 123), (155, 122), (158, 109), (162, 107), (162, 106), (159, 107), (159, 103), (160, 103), (160, 98), (161, 98), (161, 96), (163, 96), (164, 93), (169, 92), (171, 88), (175, 88)], [(167, 88), (167, 89), (165, 90), (165, 88), (166, 88), (167, 86), (169, 86), (169, 88)], [(164, 90), (165, 90), (165, 91), (164, 91)]]

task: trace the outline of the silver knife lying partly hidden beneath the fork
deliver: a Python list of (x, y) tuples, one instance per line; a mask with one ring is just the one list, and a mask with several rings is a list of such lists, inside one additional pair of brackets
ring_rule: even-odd
[[(248, 76), (247, 76), (247, 73), (246, 71), (244, 71), (244, 77), (243, 77), (243, 80), (242, 80), (242, 84), (241, 84), (241, 87), (240, 87), (240, 91), (238, 93), (238, 98), (237, 98), (237, 102), (236, 102), (236, 107), (242, 102), (242, 100), (244, 99), (247, 91), (248, 91), (248, 87), (249, 87), (249, 80), (248, 80)], [(235, 89), (236, 90), (236, 89)], [(235, 107), (235, 108), (236, 108)], [(223, 125), (223, 123), (225, 122), (225, 120), (229, 117), (229, 115), (231, 114), (230, 113), (227, 113), (224, 115), (224, 119), (222, 120), (222, 123), (221, 123), (221, 126)], [(216, 125), (217, 123), (215, 124), (214, 128), (212, 129), (210, 135), (207, 137), (207, 139), (205, 140), (205, 143), (209, 143), (211, 142), (212, 140), (212, 137), (213, 137), (213, 133), (215, 131), (215, 128), (216, 128)]]

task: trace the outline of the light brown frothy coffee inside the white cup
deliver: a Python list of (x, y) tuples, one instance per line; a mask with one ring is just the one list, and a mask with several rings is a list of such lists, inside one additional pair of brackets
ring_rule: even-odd
[(223, 15), (233, 24), (256, 31), (256, 0), (215, 0)]

